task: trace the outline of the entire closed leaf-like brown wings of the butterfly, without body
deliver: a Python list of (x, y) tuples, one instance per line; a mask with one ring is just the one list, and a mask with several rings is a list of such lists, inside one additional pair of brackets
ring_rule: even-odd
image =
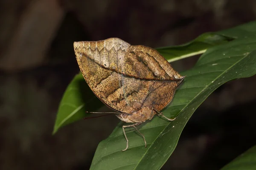
[(161, 111), (183, 79), (156, 50), (118, 38), (74, 42), (74, 49), (92, 91), (120, 112)]

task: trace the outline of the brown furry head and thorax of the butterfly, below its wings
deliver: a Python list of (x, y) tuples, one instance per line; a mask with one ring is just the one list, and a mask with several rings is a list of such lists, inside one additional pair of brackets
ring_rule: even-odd
[(126, 123), (138, 123), (145, 122), (146, 120), (150, 120), (156, 112), (151, 108), (143, 107), (138, 111), (134, 111), (133, 113), (120, 113), (116, 116)]

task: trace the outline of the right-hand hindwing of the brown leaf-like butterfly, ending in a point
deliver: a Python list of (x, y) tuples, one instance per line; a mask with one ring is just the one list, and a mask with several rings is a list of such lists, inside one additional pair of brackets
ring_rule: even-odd
[(143, 45), (130, 46), (122, 71), (126, 105), (134, 111), (142, 107), (161, 111), (172, 101), (183, 77), (156, 50)]

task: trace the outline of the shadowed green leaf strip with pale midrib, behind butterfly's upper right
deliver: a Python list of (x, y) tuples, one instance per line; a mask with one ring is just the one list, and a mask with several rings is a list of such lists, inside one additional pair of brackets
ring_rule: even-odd
[(202, 34), (195, 40), (192, 40), (184, 45), (156, 49), (168, 60), (168, 62), (174, 62), (186, 57), (203, 54), (208, 48), (224, 44), (235, 39), (255, 37), (255, 28), (256, 22), (253, 21), (223, 31)]

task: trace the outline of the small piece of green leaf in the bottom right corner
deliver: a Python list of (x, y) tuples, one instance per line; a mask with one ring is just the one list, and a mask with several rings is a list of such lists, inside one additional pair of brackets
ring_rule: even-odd
[(256, 170), (256, 146), (251, 147), (221, 170)]

